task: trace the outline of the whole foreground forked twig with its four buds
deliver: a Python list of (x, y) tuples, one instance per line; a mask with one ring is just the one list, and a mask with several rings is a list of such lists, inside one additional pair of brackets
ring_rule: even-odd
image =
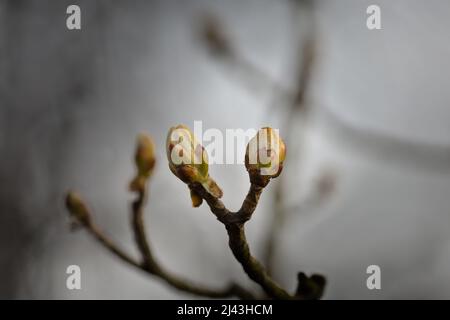
[[(259, 139), (259, 134), (261, 133), (268, 137), (262, 144)], [(253, 150), (251, 143), (257, 143), (255, 150), (258, 150), (258, 155), (253, 157), (256, 159), (256, 162), (250, 161), (252, 158), (250, 151)], [(277, 146), (277, 150), (275, 150), (274, 146)], [(261, 286), (265, 295), (272, 299), (319, 299), (325, 286), (324, 277), (319, 275), (307, 277), (304, 273), (299, 273), (296, 292), (293, 294), (288, 293), (287, 290), (283, 289), (268, 275), (264, 266), (252, 256), (245, 236), (245, 223), (251, 219), (263, 189), (272, 178), (276, 178), (281, 173), (285, 153), (284, 142), (270, 128), (261, 129), (258, 136), (249, 142), (246, 152), (246, 168), (251, 181), (250, 189), (241, 208), (236, 212), (232, 212), (220, 200), (223, 193), (208, 174), (207, 153), (203, 146), (200, 145), (199, 147), (192, 132), (185, 126), (177, 126), (170, 129), (167, 139), (167, 156), (170, 170), (187, 184), (193, 206), (198, 207), (205, 201), (217, 220), (224, 225), (228, 234), (228, 244), (234, 257), (241, 264), (248, 277)], [(174, 158), (174, 155), (179, 158)], [(263, 162), (265, 156), (267, 156), (269, 162)], [(202, 161), (200, 163), (191, 161), (195, 157), (199, 157)], [(178, 161), (180, 159), (181, 161)], [(163, 280), (178, 290), (209, 298), (237, 297), (240, 299), (256, 299), (257, 295), (239, 284), (229, 283), (223, 289), (209, 288), (169, 272), (157, 261), (144, 225), (144, 207), (148, 198), (148, 180), (155, 166), (154, 144), (147, 135), (138, 137), (135, 163), (137, 173), (130, 183), (130, 190), (136, 193), (136, 198), (131, 205), (131, 225), (135, 242), (141, 255), (140, 260), (130, 256), (107, 237), (95, 224), (91, 212), (81, 196), (75, 192), (69, 192), (66, 196), (66, 206), (74, 223), (84, 227), (106, 249), (127, 264)], [(261, 173), (267, 169), (268, 164), (276, 170), (272, 174), (262, 175)]]

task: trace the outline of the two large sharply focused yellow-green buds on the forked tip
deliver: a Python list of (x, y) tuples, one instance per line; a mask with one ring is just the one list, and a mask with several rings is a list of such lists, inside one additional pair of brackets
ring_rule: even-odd
[[(167, 135), (167, 159), (174, 175), (188, 186), (199, 183), (212, 196), (221, 198), (222, 190), (209, 175), (208, 153), (193, 132), (184, 125), (172, 127)], [(286, 147), (277, 132), (262, 128), (246, 149), (245, 166), (252, 184), (265, 187), (283, 169)], [(192, 205), (198, 207), (203, 199), (193, 189)]]

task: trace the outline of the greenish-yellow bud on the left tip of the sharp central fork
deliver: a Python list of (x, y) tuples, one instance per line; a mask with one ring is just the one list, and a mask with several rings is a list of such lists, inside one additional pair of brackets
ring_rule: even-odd
[[(186, 184), (200, 183), (216, 198), (223, 193), (208, 173), (208, 154), (192, 131), (184, 126), (172, 127), (167, 135), (167, 160), (170, 171)], [(199, 196), (191, 193), (193, 206), (199, 206)]]

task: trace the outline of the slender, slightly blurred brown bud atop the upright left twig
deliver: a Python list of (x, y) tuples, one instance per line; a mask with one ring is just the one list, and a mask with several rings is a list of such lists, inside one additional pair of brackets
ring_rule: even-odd
[(155, 167), (155, 144), (150, 136), (143, 133), (138, 136), (134, 161), (137, 174), (130, 183), (130, 189), (139, 191), (145, 187)]

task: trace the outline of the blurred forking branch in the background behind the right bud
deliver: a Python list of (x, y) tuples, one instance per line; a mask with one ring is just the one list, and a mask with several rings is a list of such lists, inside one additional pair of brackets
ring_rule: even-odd
[[(342, 115), (334, 112), (329, 106), (311, 101), (308, 97), (308, 87), (317, 64), (318, 35), (314, 21), (314, 1), (291, 1), (293, 6), (294, 22), (298, 19), (307, 20), (302, 26), (305, 30), (295, 36), (301, 37), (298, 52), (295, 54), (296, 83), (294, 89), (287, 88), (275, 80), (269, 73), (261, 70), (251, 60), (247, 59), (232, 37), (227, 34), (218, 17), (207, 15), (203, 20), (202, 39), (205, 47), (216, 59), (227, 67), (227, 71), (237, 74), (239, 84), (251, 88), (252, 93), (258, 94), (255, 88), (265, 88), (273, 93), (272, 110), (286, 111), (283, 120), (285, 140), (289, 145), (287, 162), (301, 163), (306, 157), (305, 138), (311, 127), (311, 114), (320, 113), (322, 116), (324, 132), (327, 139), (337, 139), (344, 146), (352, 150), (360, 150), (371, 158), (380, 158), (399, 161), (403, 165), (425, 167), (431, 170), (448, 171), (450, 169), (450, 146), (433, 144), (424, 141), (409, 140), (395, 134), (379, 132), (364, 126), (358, 126), (346, 120)], [(295, 41), (292, 41), (295, 43)], [(313, 106), (314, 110), (313, 110)], [(298, 130), (294, 132), (297, 121), (301, 122)], [(295, 128), (297, 129), (297, 128)], [(295, 135), (295, 136), (294, 136)], [(296, 176), (297, 179), (301, 178)], [(276, 182), (273, 194), (273, 210), (269, 221), (268, 237), (264, 246), (263, 261), (267, 266), (267, 273), (273, 274), (275, 269), (274, 252), (277, 247), (277, 238), (285, 220), (292, 214), (305, 213), (316, 209), (327, 200), (336, 189), (337, 173), (330, 169), (323, 169), (319, 173), (315, 186), (309, 196), (293, 206), (285, 204), (286, 177), (280, 177)]]

